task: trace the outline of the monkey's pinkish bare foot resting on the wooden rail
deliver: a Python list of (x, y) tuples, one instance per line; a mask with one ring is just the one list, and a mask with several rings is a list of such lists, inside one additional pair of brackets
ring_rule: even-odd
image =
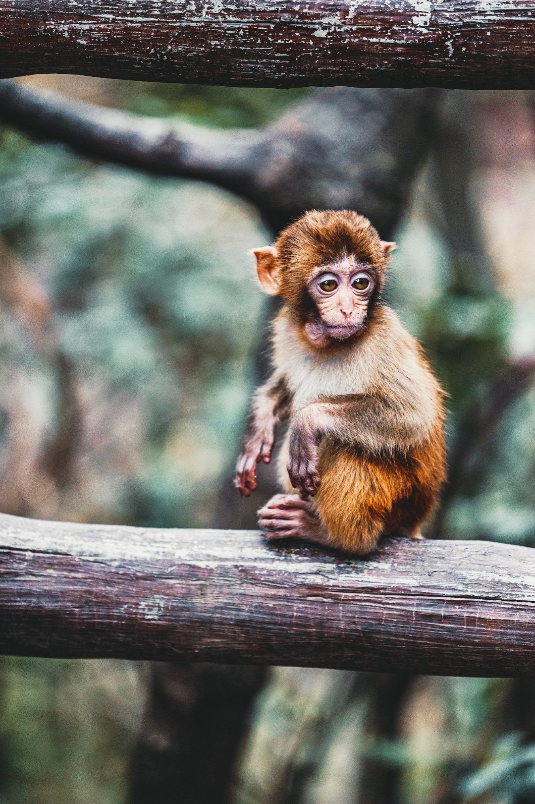
[(305, 539), (332, 547), (333, 540), (312, 508), (299, 494), (276, 494), (260, 508), (258, 523), (266, 539)]

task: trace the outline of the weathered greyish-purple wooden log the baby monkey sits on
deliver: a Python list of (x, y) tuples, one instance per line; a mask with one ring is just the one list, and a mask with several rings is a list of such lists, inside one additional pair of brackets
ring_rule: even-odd
[(0, 515), (0, 653), (535, 675), (535, 552)]

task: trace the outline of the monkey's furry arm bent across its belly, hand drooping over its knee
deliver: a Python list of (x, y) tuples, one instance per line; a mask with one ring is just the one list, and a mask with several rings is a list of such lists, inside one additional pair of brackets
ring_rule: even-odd
[(406, 398), (382, 394), (333, 396), (312, 402), (296, 413), (292, 424), (288, 475), (292, 486), (305, 497), (313, 497), (321, 483), (317, 465), (323, 437), (384, 454), (406, 451), (431, 431), (427, 410)]

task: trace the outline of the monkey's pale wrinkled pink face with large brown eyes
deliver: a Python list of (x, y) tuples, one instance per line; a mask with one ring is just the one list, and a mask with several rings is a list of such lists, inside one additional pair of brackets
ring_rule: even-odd
[(369, 263), (345, 256), (313, 270), (307, 284), (317, 316), (304, 334), (313, 346), (327, 346), (329, 338), (345, 341), (362, 329), (376, 285)]

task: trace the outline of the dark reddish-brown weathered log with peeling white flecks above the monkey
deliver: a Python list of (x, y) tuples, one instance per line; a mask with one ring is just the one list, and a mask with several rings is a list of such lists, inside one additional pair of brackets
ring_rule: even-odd
[(535, 0), (0, 0), (0, 77), (533, 88)]

